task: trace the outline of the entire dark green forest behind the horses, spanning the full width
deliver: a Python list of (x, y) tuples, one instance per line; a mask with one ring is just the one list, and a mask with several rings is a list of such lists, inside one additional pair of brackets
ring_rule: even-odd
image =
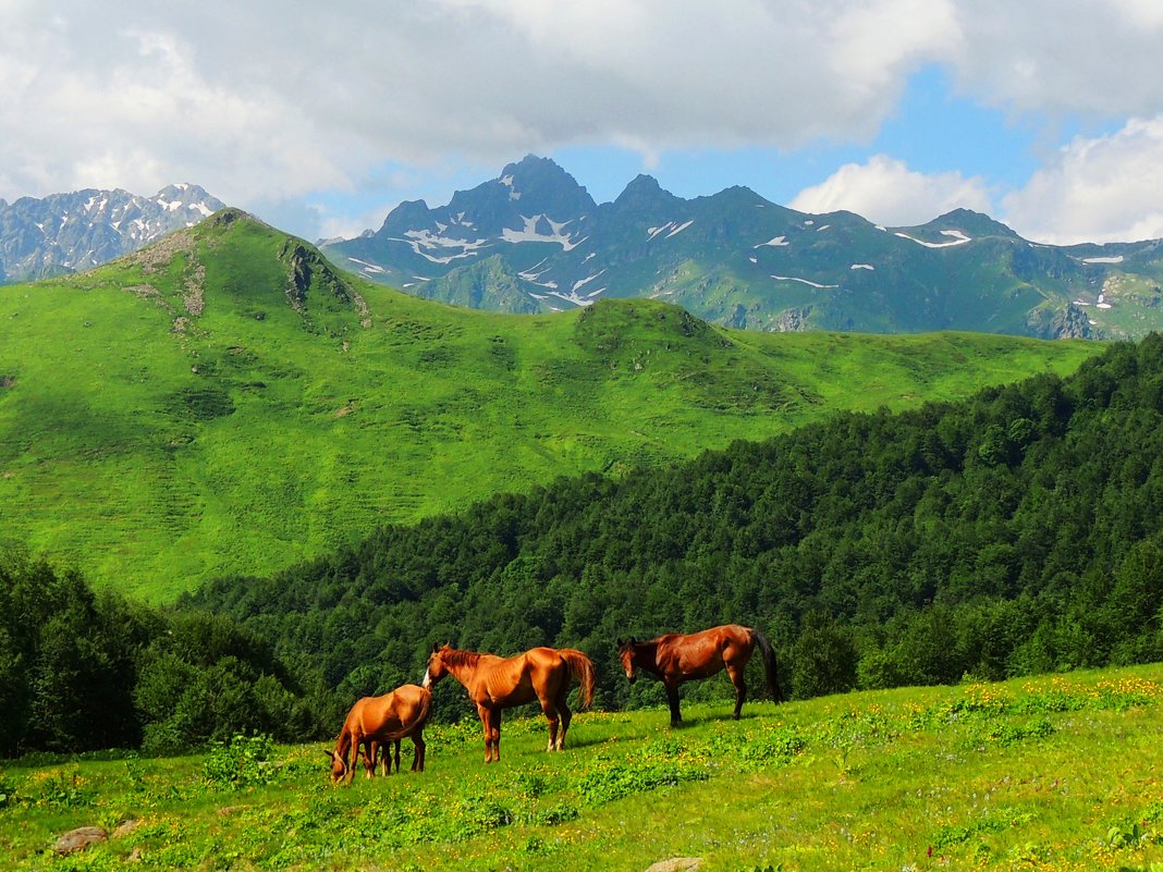
[[(786, 696), (1163, 659), (1163, 338), (957, 403), (839, 414), (670, 469), (558, 479), (384, 527), (176, 608), (0, 564), (0, 753), (334, 734), (433, 642), (580, 648), (764, 629)], [(466, 712), (437, 689), (437, 716)], [(726, 693), (704, 682), (697, 693)], [(757, 685), (756, 685), (757, 686)]]

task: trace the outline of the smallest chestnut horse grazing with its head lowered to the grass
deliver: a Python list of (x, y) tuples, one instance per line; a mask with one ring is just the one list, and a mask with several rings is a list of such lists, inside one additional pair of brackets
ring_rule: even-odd
[[(391, 749), (395, 745), (395, 771), (400, 771), (400, 739), (412, 737), (415, 755), (412, 771), (424, 771), (423, 729), (431, 714), (431, 694), (416, 685), (402, 685), (383, 696), (364, 696), (348, 712), (343, 729), (335, 739), (334, 751), (323, 751), (331, 758), (331, 784), (355, 778), (357, 757), (363, 757), (368, 778), (376, 769), (376, 753), (384, 749), (385, 774), (391, 773)], [(351, 763), (348, 764), (350, 753)]]

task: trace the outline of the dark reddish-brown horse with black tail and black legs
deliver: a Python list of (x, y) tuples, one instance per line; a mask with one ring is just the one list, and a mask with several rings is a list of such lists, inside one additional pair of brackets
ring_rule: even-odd
[(683, 722), (683, 716), (678, 713), (678, 686), (697, 678), (708, 678), (725, 669), (735, 685), (734, 719), (739, 720), (743, 700), (747, 699), (747, 662), (751, 659), (756, 645), (763, 655), (768, 693), (779, 702), (782, 696), (776, 684), (776, 653), (768, 637), (750, 627), (732, 623), (688, 635), (668, 632), (649, 642), (638, 642), (632, 636), (625, 642), (618, 639), (618, 653), (630, 684), (637, 678), (637, 670), (662, 679), (670, 702), (670, 726), (677, 727)]

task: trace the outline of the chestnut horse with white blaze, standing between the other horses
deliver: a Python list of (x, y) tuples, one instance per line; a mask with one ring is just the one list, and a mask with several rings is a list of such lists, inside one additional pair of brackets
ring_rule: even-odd
[(549, 721), (549, 746), (545, 750), (561, 751), (573, 717), (565, 703), (570, 676), (582, 685), (582, 708), (593, 701), (593, 663), (572, 648), (534, 648), (505, 658), (461, 651), (449, 645), (433, 645), (423, 686), (431, 687), (448, 673), (464, 685), (469, 699), (477, 706), (485, 730), (485, 763), (501, 758), (501, 709), (537, 700)]

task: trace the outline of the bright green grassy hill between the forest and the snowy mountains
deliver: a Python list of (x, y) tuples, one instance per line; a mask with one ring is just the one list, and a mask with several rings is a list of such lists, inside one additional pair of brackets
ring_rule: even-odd
[(362, 326), (319, 287), (306, 313), (287, 305), (285, 243), (208, 222), (86, 276), (0, 288), (0, 544), (165, 600), (558, 474), (964, 396), (1100, 350), (729, 333), (649, 301), (491, 315), (354, 279)]

